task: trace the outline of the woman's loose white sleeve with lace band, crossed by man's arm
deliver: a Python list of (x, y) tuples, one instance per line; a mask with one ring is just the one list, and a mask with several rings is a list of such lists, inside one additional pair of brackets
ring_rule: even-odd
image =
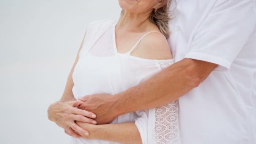
[[(171, 62), (159, 62), (160, 70)], [(136, 112), (139, 118), (135, 125), (139, 130), (142, 144), (181, 144), (179, 131), (178, 100), (161, 107)]]

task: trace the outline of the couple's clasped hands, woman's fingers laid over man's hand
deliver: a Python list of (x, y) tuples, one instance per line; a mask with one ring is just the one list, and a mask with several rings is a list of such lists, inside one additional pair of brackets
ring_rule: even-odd
[(109, 94), (94, 94), (74, 101), (57, 101), (48, 108), (48, 119), (64, 128), (69, 136), (88, 138), (90, 128), (81, 123), (106, 124), (115, 119)]

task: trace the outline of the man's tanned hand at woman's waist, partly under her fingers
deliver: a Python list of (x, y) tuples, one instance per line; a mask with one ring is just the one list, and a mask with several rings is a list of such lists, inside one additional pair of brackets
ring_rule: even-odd
[(111, 98), (109, 94), (84, 96), (79, 98), (84, 103), (78, 108), (95, 113), (97, 124), (107, 124), (118, 116), (118, 111), (114, 108), (115, 102)]

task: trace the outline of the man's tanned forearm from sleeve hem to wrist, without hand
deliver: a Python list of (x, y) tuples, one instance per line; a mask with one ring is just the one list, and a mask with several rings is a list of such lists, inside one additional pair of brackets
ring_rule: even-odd
[(149, 80), (111, 97), (117, 115), (159, 107), (175, 101), (197, 87), (217, 65), (184, 59)]

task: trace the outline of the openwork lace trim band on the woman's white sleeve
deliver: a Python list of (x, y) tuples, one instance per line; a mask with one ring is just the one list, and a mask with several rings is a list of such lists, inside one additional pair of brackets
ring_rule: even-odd
[[(158, 63), (164, 70), (171, 63)], [(162, 107), (155, 108), (155, 143), (156, 144), (181, 144), (179, 131), (179, 101), (173, 101)]]

